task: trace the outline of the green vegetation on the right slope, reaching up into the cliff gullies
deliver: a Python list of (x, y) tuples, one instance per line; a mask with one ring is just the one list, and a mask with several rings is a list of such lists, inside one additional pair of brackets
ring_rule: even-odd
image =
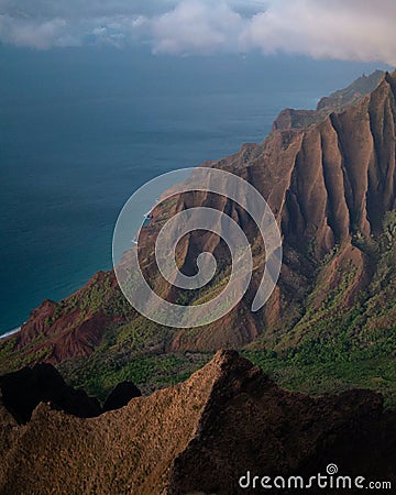
[[(386, 213), (378, 241), (361, 249), (376, 267), (372, 283), (349, 309), (342, 307), (353, 271), (315, 306), (320, 282), (308, 297), (306, 311), (274, 350), (244, 350), (243, 355), (270, 373), (285, 388), (310, 394), (351, 387), (381, 392), (396, 407), (396, 212)], [(363, 245), (364, 244), (364, 245)], [(331, 263), (330, 253), (324, 265)], [(326, 268), (326, 266), (324, 266)], [(276, 352), (275, 352), (276, 350)]]

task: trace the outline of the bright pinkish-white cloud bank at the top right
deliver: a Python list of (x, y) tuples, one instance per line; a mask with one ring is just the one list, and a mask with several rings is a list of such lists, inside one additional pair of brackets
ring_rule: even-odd
[(251, 19), (241, 46), (395, 65), (395, 19), (396, 2), (389, 0), (272, 1)]

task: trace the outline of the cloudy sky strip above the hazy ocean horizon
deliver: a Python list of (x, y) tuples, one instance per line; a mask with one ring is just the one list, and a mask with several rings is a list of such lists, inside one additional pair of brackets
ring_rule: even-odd
[(20, 47), (145, 45), (154, 54), (298, 54), (396, 65), (395, 0), (0, 0)]

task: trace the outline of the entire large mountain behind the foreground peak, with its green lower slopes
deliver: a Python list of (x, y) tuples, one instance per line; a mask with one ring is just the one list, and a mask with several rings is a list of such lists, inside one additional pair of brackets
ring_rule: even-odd
[[(273, 359), (301, 367), (338, 359), (389, 363), (396, 327), (395, 124), (396, 73), (377, 72), (322, 99), (317, 110), (282, 112), (263, 143), (245, 144), (232, 156), (204, 164), (249, 180), (279, 224), (280, 278), (257, 314), (250, 311), (250, 302), (265, 251), (249, 216), (223, 197), (184, 194), (158, 205), (142, 231), (146, 277), (175, 302), (198, 304), (221, 290), (229, 273), (222, 263), (211, 284), (183, 298), (160, 277), (154, 245), (163, 222), (178, 211), (191, 206), (223, 211), (249, 237), (254, 263), (248, 294), (229, 315), (208, 327), (163, 328), (129, 306), (113, 272), (100, 272), (65, 300), (46, 300), (35, 309), (22, 330), (0, 344), (0, 370), (51, 362), (73, 383), (103, 393), (120, 378), (131, 378), (143, 389), (163, 386), (188, 375), (220, 348), (244, 349), (270, 367)], [(218, 237), (193, 232), (177, 250), (185, 273), (195, 271), (202, 250), (218, 260), (228, 256)], [(88, 378), (92, 373), (96, 381)], [(298, 387), (293, 373), (289, 381)], [(338, 377), (340, 385), (348, 382), (348, 373)], [(394, 380), (389, 375), (378, 385), (363, 377), (392, 396)], [(308, 382), (304, 387), (311, 392), (315, 386)]]

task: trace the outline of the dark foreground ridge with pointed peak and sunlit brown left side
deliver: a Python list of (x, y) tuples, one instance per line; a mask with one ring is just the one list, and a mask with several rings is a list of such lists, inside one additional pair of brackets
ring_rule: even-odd
[(81, 419), (40, 404), (18, 426), (0, 405), (0, 491), (246, 493), (239, 479), (323, 473), (394, 482), (396, 422), (380, 394), (279, 389), (237, 352), (187, 382)]

